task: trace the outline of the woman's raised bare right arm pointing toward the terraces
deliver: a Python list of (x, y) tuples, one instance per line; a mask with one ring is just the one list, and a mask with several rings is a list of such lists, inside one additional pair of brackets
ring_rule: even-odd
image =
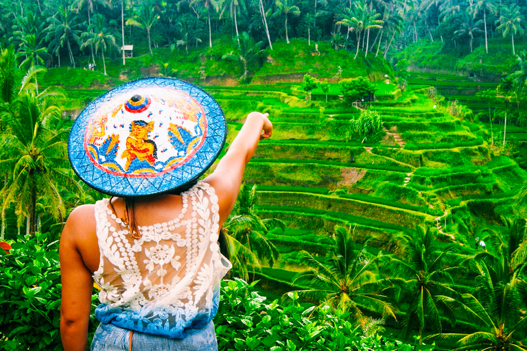
[(267, 117), (268, 114), (250, 112), (242, 130), (231, 143), (229, 151), (220, 160), (213, 173), (204, 179), (204, 182), (213, 186), (218, 195), (220, 225), (229, 217), (234, 207), (245, 165), (253, 157), (258, 141), (270, 138), (272, 134), (272, 124)]

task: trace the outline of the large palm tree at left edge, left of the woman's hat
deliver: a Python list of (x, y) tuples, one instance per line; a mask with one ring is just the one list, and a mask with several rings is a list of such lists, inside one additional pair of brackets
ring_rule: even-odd
[(55, 130), (61, 110), (54, 104), (63, 95), (46, 88), (36, 94), (32, 78), (40, 70), (26, 75), (18, 95), (1, 106), (2, 120), (9, 130), (0, 141), (0, 173), (8, 181), (1, 189), (2, 210), (15, 205), (19, 226), (27, 219), (30, 234), (36, 230), (38, 199), (51, 204), (49, 213), (62, 221), (66, 213), (60, 191), (75, 187), (67, 165), (67, 130)]

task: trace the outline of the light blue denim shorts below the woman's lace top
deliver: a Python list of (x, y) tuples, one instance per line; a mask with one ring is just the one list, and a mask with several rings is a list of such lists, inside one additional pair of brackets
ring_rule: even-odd
[[(91, 351), (130, 350), (130, 330), (101, 323), (95, 330)], [(202, 329), (189, 330), (185, 339), (168, 339), (159, 335), (135, 332), (132, 351), (218, 351), (213, 322)]]

